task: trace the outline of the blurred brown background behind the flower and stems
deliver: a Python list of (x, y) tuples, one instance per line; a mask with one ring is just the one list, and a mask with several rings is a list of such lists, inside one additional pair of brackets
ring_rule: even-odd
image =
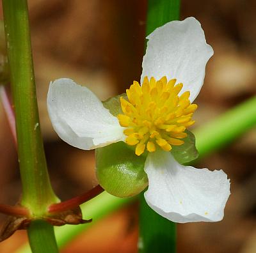
[[(102, 100), (124, 92), (140, 79), (146, 8), (146, 0), (29, 1), (41, 127), (52, 185), (61, 199), (81, 194), (97, 180), (93, 151), (68, 146), (52, 130), (46, 109), (49, 81), (70, 77)], [(214, 49), (196, 101), (195, 127), (256, 94), (255, 11), (254, 0), (182, 1), (181, 19), (200, 20)], [(0, 126), (0, 203), (14, 204), (21, 185), (1, 104)], [(231, 179), (232, 195), (223, 221), (178, 225), (178, 253), (256, 252), (255, 158), (256, 130), (252, 129), (198, 164), (223, 169)], [(135, 253), (137, 210), (132, 204), (117, 211), (61, 252)], [(0, 218), (3, 223), (4, 216)], [(14, 252), (26, 240), (26, 232), (19, 231), (0, 244), (0, 252)]]

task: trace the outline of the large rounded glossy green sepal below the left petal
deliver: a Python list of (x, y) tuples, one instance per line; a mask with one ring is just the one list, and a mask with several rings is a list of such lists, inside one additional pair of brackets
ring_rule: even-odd
[(116, 197), (139, 194), (148, 185), (144, 171), (146, 155), (136, 156), (127, 144), (116, 142), (95, 150), (99, 184)]

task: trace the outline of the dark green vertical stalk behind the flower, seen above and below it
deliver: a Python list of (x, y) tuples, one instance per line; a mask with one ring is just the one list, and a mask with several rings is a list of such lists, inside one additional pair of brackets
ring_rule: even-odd
[[(148, 0), (146, 36), (159, 26), (179, 20), (179, 0)], [(176, 225), (161, 217), (140, 194), (140, 253), (167, 253), (176, 250)]]

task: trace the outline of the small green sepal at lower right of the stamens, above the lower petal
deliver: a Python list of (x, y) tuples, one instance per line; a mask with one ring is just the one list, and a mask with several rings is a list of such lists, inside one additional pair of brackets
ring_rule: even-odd
[(182, 141), (184, 144), (180, 146), (172, 146), (172, 155), (179, 164), (186, 164), (195, 160), (198, 157), (198, 151), (195, 146), (195, 135), (189, 130), (185, 131), (188, 136)]

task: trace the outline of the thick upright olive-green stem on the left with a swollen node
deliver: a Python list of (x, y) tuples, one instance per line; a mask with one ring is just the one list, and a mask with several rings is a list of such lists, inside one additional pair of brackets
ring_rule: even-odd
[[(22, 180), (21, 204), (31, 211), (33, 218), (40, 218), (47, 211), (47, 206), (56, 203), (58, 198), (54, 194), (49, 180), (40, 132), (31, 53), (28, 3), (27, 0), (3, 0), (2, 3), (16, 116), (18, 155)], [(46, 237), (47, 240), (45, 241)], [(36, 221), (31, 222), (29, 241), (35, 252), (58, 252), (56, 247), (52, 247), (52, 245), (56, 245), (56, 241), (51, 225), (44, 226), (44, 229), (41, 230), (38, 229)], [(40, 247), (49, 250), (38, 251)]]

